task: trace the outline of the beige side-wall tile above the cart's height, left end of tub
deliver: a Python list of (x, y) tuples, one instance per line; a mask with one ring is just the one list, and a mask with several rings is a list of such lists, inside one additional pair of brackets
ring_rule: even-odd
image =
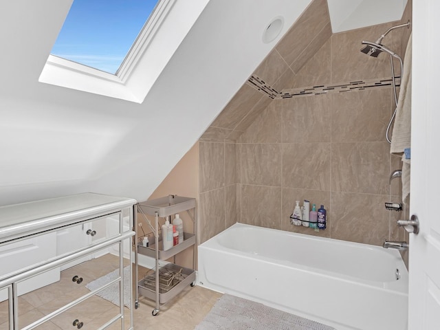
[(224, 144), (200, 142), (200, 192), (225, 185)]

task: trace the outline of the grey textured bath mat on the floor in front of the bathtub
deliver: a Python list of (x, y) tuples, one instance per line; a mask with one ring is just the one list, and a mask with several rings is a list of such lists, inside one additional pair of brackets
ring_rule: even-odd
[(335, 330), (327, 325), (223, 294), (195, 330)]

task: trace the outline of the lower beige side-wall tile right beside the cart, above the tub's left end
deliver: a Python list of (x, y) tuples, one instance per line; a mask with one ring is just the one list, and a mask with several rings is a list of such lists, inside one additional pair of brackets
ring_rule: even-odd
[(225, 230), (225, 188), (200, 194), (200, 244)]

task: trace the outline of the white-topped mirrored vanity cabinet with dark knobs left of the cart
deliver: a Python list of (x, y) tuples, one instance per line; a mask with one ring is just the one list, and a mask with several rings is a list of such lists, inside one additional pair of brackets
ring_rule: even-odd
[[(131, 267), (126, 267), (128, 274), (124, 272), (124, 249), (131, 250), (135, 234), (135, 203), (134, 199), (85, 193), (0, 207), (0, 298), (5, 300), (0, 303), (0, 329), (52, 329), (54, 325), (60, 329), (133, 329), (133, 309), (124, 308), (124, 301), (132, 305), (131, 289), (125, 291), (127, 299), (123, 283), (132, 286)], [(107, 228), (109, 219), (112, 230)], [(115, 270), (115, 277), (87, 289), (85, 285), (100, 276), (86, 264), (69, 267), (109, 251), (118, 255), (111, 256), (107, 264)], [(130, 251), (125, 255), (129, 256), (125, 264), (131, 265)], [(48, 294), (62, 299), (42, 304), (45, 285), (50, 283), (54, 284)], [(98, 297), (107, 287), (119, 306)], [(30, 307), (19, 304), (18, 296), (25, 293), (26, 304), (32, 305), (32, 300), (40, 304), (32, 320), (23, 316)]]

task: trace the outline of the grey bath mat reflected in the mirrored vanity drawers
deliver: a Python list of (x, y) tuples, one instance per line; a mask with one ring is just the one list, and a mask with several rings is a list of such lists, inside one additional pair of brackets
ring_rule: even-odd
[[(102, 285), (109, 283), (115, 278), (118, 278), (118, 276), (119, 276), (119, 270), (113, 270), (113, 272), (101, 276), (100, 278), (96, 278), (95, 281), (91, 281), (85, 287), (87, 287), (87, 289), (89, 289), (90, 291), (93, 291), (94, 289), (98, 289), (99, 287), (102, 287)], [(124, 306), (130, 308), (131, 290), (130, 290), (129, 276), (130, 276), (130, 266), (126, 266), (124, 267)], [(105, 300), (109, 300), (109, 302), (115, 304), (116, 306), (119, 306), (119, 283), (115, 283), (110, 287), (107, 287), (107, 289), (98, 292), (96, 296), (100, 296)]]

